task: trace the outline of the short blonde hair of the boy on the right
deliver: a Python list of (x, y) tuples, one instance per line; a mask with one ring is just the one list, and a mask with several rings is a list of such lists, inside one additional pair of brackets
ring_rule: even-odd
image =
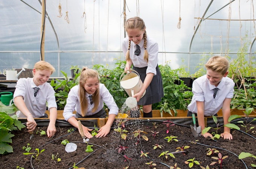
[(205, 67), (224, 75), (229, 69), (229, 61), (225, 57), (213, 56), (207, 61)]

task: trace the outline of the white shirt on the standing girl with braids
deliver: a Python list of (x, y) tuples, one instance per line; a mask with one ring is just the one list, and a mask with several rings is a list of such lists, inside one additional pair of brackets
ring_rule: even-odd
[[(122, 42), (123, 48), (123, 56), (126, 57), (126, 52), (128, 50), (129, 45), (129, 38), (126, 37)], [(133, 62), (133, 65), (137, 68), (144, 68), (148, 66), (146, 70), (146, 74), (153, 73), (154, 75), (157, 74), (155, 68), (158, 64), (158, 44), (157, 42), (153, 41), (152, 39), (148, 38), (147, 36), (147, 51), (148, 51), (148, 63), (144, 60), (144, 39), (142, 39), (139, 43), (140, 46), (140, 55), (136, 56), (134, 51), (136, 50), (136, 44), (131, 41), (131, 48), (130, 48), (130, 59)]]

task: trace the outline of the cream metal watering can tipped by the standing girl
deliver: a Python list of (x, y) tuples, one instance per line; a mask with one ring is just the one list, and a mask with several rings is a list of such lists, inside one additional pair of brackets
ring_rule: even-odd
[[(127, 72), (126, 75), (124, 75)], [(120, 76), (120, 85), (121, 88), (125, 89), (125, 92), (129, 95), (126, 99), (126, 106), (134, 108), (137, 106), (137, 101), (133, 97), (134, 94), (137, 94), (142, 88), (142, 81), (140, 80), (140, 75), (137, 71), (129, 69), (124, 71)], [(145, 92), (142, 94), (141, 98), (145, 95)]]

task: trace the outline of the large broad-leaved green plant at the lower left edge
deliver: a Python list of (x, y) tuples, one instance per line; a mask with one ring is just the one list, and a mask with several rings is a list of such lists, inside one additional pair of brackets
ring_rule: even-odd
[(8, 152), (13, 152), (11, 131), (21, 130), (21, 128), (26, 127), (18, 121), (17, 115), (9, 116), (17, 111), (17, 107), (14, 104), (6, 106), (0, 102), (0, 154), (6, 154)]

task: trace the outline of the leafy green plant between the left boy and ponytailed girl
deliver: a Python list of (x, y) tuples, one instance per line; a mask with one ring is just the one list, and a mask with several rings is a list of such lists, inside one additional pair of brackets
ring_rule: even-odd
[(79, 84), (78, 77), (81, 73), (79, 72), (76, 74), (72, 80), (70, 80), (70, 77), (67, 76), (66, 72), (61, 71), (61, 73), (64, 75), (64, 79), (52, 79), (50, 84), (55, 90), (55, 98), (58, 104), (58, 109), (64, 110), (70, 89)]

